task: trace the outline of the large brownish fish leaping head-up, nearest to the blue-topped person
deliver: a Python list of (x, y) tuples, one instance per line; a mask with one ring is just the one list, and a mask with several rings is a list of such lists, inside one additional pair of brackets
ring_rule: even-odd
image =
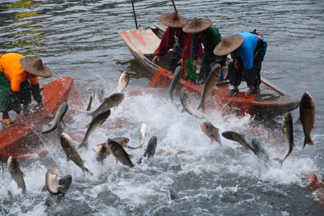
[(205, 102), (206, 102), (206, 99), (212, 93), (212, 91), (214, 89), (214, 86), (218, 82), (220, 76), (221, 76), (221, 66), (220, 66), (220, 64), (216, 64), (212, 68), (212, 70), (210, 71), (210, 73), (208, 75), (207, 82), (206, 82), (206, 84), (205, 84), (205, 86), (203, 88), (202, 100), (201, 100), (201, 102), (200, 102), (197, 110), (199, 110), (200, 108), (202, 108), (203, 110), (205, 110)]

